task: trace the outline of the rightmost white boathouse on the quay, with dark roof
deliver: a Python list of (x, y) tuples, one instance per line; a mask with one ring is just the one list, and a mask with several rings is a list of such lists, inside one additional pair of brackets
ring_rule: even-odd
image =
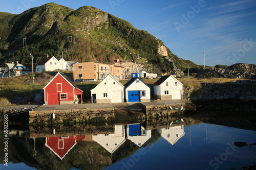
[(182, 99), (183, 84), (172, 75), (161, 77), (154, 86), (154, 95), (160, 100)]

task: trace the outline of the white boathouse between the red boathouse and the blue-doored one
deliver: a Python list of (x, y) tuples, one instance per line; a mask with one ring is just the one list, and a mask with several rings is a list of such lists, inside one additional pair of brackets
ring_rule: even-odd
[(113, 76), (106, 76), (91, 90), (92, 103), (122, 103), (124, 86)]

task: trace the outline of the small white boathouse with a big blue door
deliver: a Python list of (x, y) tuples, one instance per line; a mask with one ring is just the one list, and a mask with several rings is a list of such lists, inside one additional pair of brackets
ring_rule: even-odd
[(124, 85), (126, 102), (150, 102), (150, 86), (139, 78), (132, 78)]

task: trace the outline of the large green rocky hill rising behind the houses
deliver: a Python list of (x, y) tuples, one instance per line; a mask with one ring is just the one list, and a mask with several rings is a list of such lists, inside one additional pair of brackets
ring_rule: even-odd
[(138, 64), (154, 64), (158, 74), (197, 66), (155, 36), (94, 7), (49, 3), (19, 15), (0, 12), (0, 65), (18, 61), (30, 67), (30, 53), (36, 63), (47, 54), (59, 58), (61, 51), (65, 60), (78, 62), (131, 61), (132, 53)]

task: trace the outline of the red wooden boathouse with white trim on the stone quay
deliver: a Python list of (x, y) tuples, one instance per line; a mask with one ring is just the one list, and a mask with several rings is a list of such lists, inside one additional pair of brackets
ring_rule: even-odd
[(74, 104), (82, 101), (82, 90), (79, 89), (65, 74), (58, 74), (44, 87), (45, 104)]

